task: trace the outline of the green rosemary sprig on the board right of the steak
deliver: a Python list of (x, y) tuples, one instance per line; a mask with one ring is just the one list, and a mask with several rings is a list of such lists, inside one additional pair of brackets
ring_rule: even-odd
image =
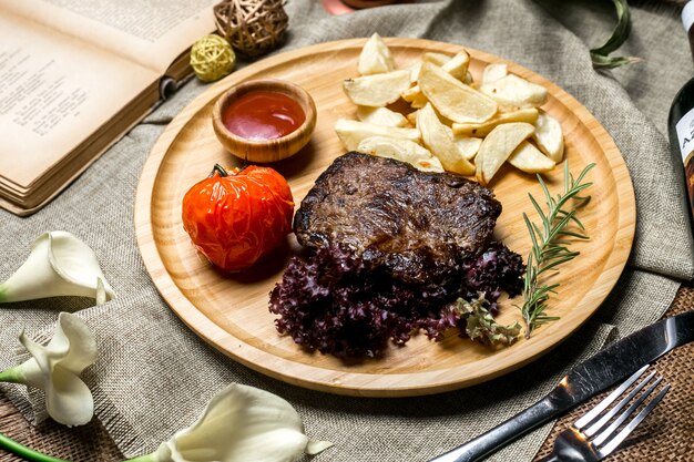
[[(548, 212), (544, 213), (532, 194), (528, 194), (530, 202), (540, 215), (540, 225), (530, 222), (523, 213), (523, 219), (532, 248), (528, 255), (525, 277), (523, 281), (523, 306), (520, 308), (525, 324), (525, 338), (530, 338), (532, 331), (543, 324), (559, 319), (547, 315), (547, 301), (550, 294), (555, 294), (559, 284), (541, 285), (540, 276), (550, 269), (554, 269), (567, 261), (575, 258), (580, 253), (569, 250), (571, 238), (588, 239), (583, 224), (575, 216), (579, 207), (590, 201), (590, 196), (579, 196), (592, 183), (582, 183), (583, 178), (595, 164), (590, 164), (574, 178), (569, 172), (569, 164), (564, 162), (564, 191), (552, 197), (542, 176), (538, 175), (544, 193)], [(569, 226), (573, 224), (573, 229)], [(578, 228), (578, 230), (576, 230)]]

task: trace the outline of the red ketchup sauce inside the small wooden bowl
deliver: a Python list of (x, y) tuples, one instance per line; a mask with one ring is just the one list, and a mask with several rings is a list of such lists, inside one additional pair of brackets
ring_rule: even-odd
[(306, 120), (295, 100), (273, 91), (248, 92), (233, 101), (222, 122), (233, 134), (246, 140), (274, 140), (298, 129)]

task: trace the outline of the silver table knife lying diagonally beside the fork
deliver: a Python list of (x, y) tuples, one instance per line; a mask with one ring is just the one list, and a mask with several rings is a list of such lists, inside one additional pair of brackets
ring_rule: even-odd
[(673, 348), (694, 340), (694, 311), (665, 318), (573, 367), (535, 404), (429, 462), (473, 462), (606, 390)]

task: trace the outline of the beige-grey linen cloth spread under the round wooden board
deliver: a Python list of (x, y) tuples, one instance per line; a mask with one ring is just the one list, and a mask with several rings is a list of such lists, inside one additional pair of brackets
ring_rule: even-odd
[[(676, 11), (635, 8), (632, 38), (622, 51), (646, 61), (596, 72), (588, 50), (611, 31), (609, 1), (449, 0), (329, 17), (318, 1), (292, 0), (286, 10), (290, 30), (283, 50), (377, 31), (484, 50), (562, 86), (602, 122), (626, 160), (637, 205), (629, 266), (579, 332), (534, 363), (479, 387), (414, 399), (336, 399), (268, 379), (208, 348), (172, 314), (135, 244), (133, 199), (142, 165), (166, 123), (205, 90), (191, 82), (44, 209), (29, 218), (0, 212), (0, 279), (27, 257), (35, 236), (67, 229), (94, 248), (118, 292), (96, 308), (76, 298), (0, 307), (0, 368), (19, 360), (17, 336), (23, 327), (41, 337), (60, 310), (80, 310), (101, 351), (85, 373), (96, 417), (126, 455), (153, 451), (188, 425), (217, 390), (237, 381), (289, 400), (312, 438), (335, 443), (317, 462), (425, 461), (524, 409), (604, 342), (657, 319), (680, 281), (693, 276), (681, 172), (665, 136), (670, 103), (692, 75)], [(40, 397), (19, 386), (2, 390), (29, 419), (44, 418)], [(490, 460), (529, 461), (548, 431), (545, 425)]]

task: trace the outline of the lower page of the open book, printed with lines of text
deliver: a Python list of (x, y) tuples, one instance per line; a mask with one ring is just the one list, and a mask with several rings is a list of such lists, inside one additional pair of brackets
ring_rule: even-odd
[(0, 176), (22, 192), (159, 74), (0, 14)]

